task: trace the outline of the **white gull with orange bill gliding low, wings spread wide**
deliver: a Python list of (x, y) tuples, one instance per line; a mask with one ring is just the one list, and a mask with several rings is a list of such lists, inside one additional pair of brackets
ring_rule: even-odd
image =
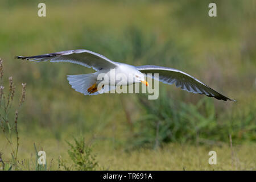
[[(72, 88), (75, 89), (77, 92), (81, 92), (85, 95), (99, 94), (99, 90), (97, 88), (99, 84), (99, 81), (97, 80), (98, 75), (100, 73), (105, 73), (109, 75), (110, 71), (114, 69), (115, 73), (122, 73), (126, 75), (127, 78), (129, 77), (129, 74), (133, 76), (133, 81), (126, 80), (126, 82), (123, 83), (124, 85), (142, 82), (147, 86), (148, 83), (144, 78), (144, 74), (147, 75), (147, 73), (152, 73), (152, 78), (154, 78), (154, 73), (158, 73), (159, 81), (163, 82), (164, 84), (175, 84), (177, 87), (180, 87), (183, 90), (187, 90), (188, 92), (205, 94), (208, 97), (214, 97), (218, 100), (235, 101), (216, 92), (209, 86), (205, 85), (203, 82), (192, 77), (191, 75), (188, 75), (187, 73), (179, 71), (177, 69), (159, 67), (156, 65), (143, 65), (135, 67), (133, 65), (112, 61), (105, 56), (85, 49), (61, 51), (55, 53), (47, 53), (45, 55), (28, 57), (15, 56), (15, 58), (30, 60), (34, 62), (42, 62), (48, 60), (53, 63), (69, 62), (80, 64), (87, 68), (93, 68), (96, 71), (94, 73), (85, 75), (68, 75), (68, 81), (69, 84), (72, 85)], [(111, 82), (112, 81), (110, 81), (110, 83)], [(115, 86), (118, 82), (118, 80), (114, 80), (114, 82), (112, 82), (114, 83), (114, 85), (109, 85), (109, 88), (113, 88), (111, 86)]]

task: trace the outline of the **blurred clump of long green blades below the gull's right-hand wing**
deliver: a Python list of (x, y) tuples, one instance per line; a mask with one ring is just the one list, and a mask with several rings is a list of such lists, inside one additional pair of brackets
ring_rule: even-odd
[(130, 140), (132, 147), (157, 148), (168, 142), (221, 144), (229, 142), (229, 134), (238, 143), (256, 141), (255, 106), (246, 115), (234, 113), (218, 117), (212, 100), (207, 98), (197, 104), (185, 104), (171, 100), (163, 92), (158, 100), (151, 101), (143, 96), (138, 100), (144, 113), (135, 123), (136, 131)]

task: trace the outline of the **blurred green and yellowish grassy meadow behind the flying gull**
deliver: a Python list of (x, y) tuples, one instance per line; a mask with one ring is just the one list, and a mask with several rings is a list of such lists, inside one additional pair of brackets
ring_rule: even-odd
[[(0, 2), (0, 169), (255, 170), (255, 1), (44, 1), (39, 17), (40, 2)], [(67, 75), (93, 69), (14, 59), (69, 49), (180, 69), (237, 102), (163, 83), (158, 100), (84, 96)]]

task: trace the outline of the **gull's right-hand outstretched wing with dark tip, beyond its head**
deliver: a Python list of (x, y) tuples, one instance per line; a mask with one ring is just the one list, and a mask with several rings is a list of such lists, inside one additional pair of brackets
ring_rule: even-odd
[(175, 84), (177, 87), (180, 87), (183, 90), (187, 90), (188, 92), (205, 94), (208, 97), (214, 97), (218, 100), (235, 101), (216, 92), (191, 75), (188, 75), (187, 73), (181, 72), (177, 69), (158, 67), (155, 65), (139, 66), (137, 69), (142, 73), (152, 73), (153, 78), (154, 73), (159, 73), (159, 81), (163, 82), (164, 84)]

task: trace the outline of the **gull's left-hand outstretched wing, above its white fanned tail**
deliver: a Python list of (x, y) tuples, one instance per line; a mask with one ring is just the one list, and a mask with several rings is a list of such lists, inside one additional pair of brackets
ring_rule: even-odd
[(109, 60), (105, 56), (85, 49), (77, 49), (70, 51), (61, 51), (55, 53), (47, 53), (39, 56), (15, 56), (17, 59), (26, 59), (34, 62), (51, 61), (51, 62), (69, 62), (80, 64), (84, 67), (93, 68), (96, 71), (100, 69), (111, 69), (117, 67), (117, 63)]

